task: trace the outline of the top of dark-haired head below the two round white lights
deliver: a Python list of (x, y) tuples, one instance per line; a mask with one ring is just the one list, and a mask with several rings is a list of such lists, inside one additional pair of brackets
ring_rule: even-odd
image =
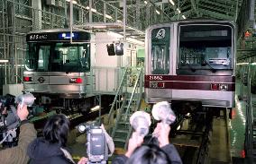
[(127, 160), (126, 164), (170, 164), (168, 155), (155, 144), (138, 147)]

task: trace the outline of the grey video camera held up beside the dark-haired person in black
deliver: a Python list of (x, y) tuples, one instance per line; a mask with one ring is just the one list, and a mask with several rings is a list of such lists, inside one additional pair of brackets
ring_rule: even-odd
[(108, 147), (104, 130), (95, 122), (78, 125), (80, 133), (87, 133), (87, 156), (89, 163), (105, 164), (108, 159)]

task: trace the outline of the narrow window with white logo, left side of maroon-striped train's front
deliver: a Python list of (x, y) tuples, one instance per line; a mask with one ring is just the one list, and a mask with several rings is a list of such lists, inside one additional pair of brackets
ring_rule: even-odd
[(169, 27), (151, 31), (151, 73), (169, 73)]

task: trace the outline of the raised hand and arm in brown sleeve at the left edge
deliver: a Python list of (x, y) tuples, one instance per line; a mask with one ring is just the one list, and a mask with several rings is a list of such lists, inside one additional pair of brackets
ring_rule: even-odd
[[(23, 98), (23, 95), (21, 95), (21, 97)], [(27, 107), (28, 105), (24, 103), (23, 100), (18, 99), (18, 106), (16, 111), (16, 115), (20, 119), (20, 134), (18, 145), (13, 148), (0, 151), (1, 164), (26, 164), (29, 160), (28, 156), (26, 155), (26, 151), (29, 143), (32, 142), (34, 138), (36, 138), (36, 131), (34, 126), (27, 120), (29, 115)]]

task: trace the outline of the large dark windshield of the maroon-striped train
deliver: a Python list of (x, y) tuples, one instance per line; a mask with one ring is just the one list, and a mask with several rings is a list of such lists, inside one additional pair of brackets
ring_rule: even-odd
[(206, 74), (232, 69), (232, 28), (220, 25), (179, 26), (178, 74)]

